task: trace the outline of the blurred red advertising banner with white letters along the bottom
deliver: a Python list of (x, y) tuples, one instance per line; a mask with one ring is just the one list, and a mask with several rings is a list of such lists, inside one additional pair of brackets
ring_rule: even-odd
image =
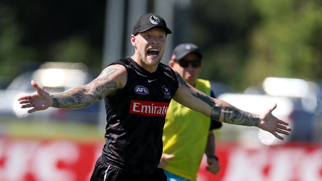
[[(0, 137), (0, 181), (89, 181), (103, 143), (18, 140)], [(322, 145), (283, 144), (257, 148), (217, 144), (220, 171), (198, 181), (322, 181)]]

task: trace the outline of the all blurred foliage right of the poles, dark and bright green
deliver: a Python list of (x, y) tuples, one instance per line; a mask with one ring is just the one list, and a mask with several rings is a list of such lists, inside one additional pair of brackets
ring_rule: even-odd
[(268, 76), (321, 81), (321, 0), (192, 0), (189, 17), (203, 78), (240, 91)]

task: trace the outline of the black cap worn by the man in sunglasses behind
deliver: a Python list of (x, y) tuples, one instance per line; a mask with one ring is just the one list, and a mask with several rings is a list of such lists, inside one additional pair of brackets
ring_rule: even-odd
[(203, 57), (197, 45), (186, 43), (186, 44), (179, 44), (173, 49), (171, 59), (177, 61), (189, 53), (196, 53), (199, 58)]

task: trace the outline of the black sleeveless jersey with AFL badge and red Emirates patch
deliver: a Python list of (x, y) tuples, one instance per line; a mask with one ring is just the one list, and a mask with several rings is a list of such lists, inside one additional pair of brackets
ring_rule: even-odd
[(105, 98), (107, 126), (103, 156), (118, 169), (154, 173), (162, 155), (165, 114), (178, 89), (175, 73), (162, 63), (150, 73), (129, 56), (111, 64), (126, 68), (127, 82), (124, 88)]

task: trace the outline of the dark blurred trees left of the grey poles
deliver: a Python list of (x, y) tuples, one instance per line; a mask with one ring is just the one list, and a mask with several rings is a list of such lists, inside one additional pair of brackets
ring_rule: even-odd
[(106, 0), (0, 1), (0, 82), (45, 61), (82, 62), (99, 73)]

